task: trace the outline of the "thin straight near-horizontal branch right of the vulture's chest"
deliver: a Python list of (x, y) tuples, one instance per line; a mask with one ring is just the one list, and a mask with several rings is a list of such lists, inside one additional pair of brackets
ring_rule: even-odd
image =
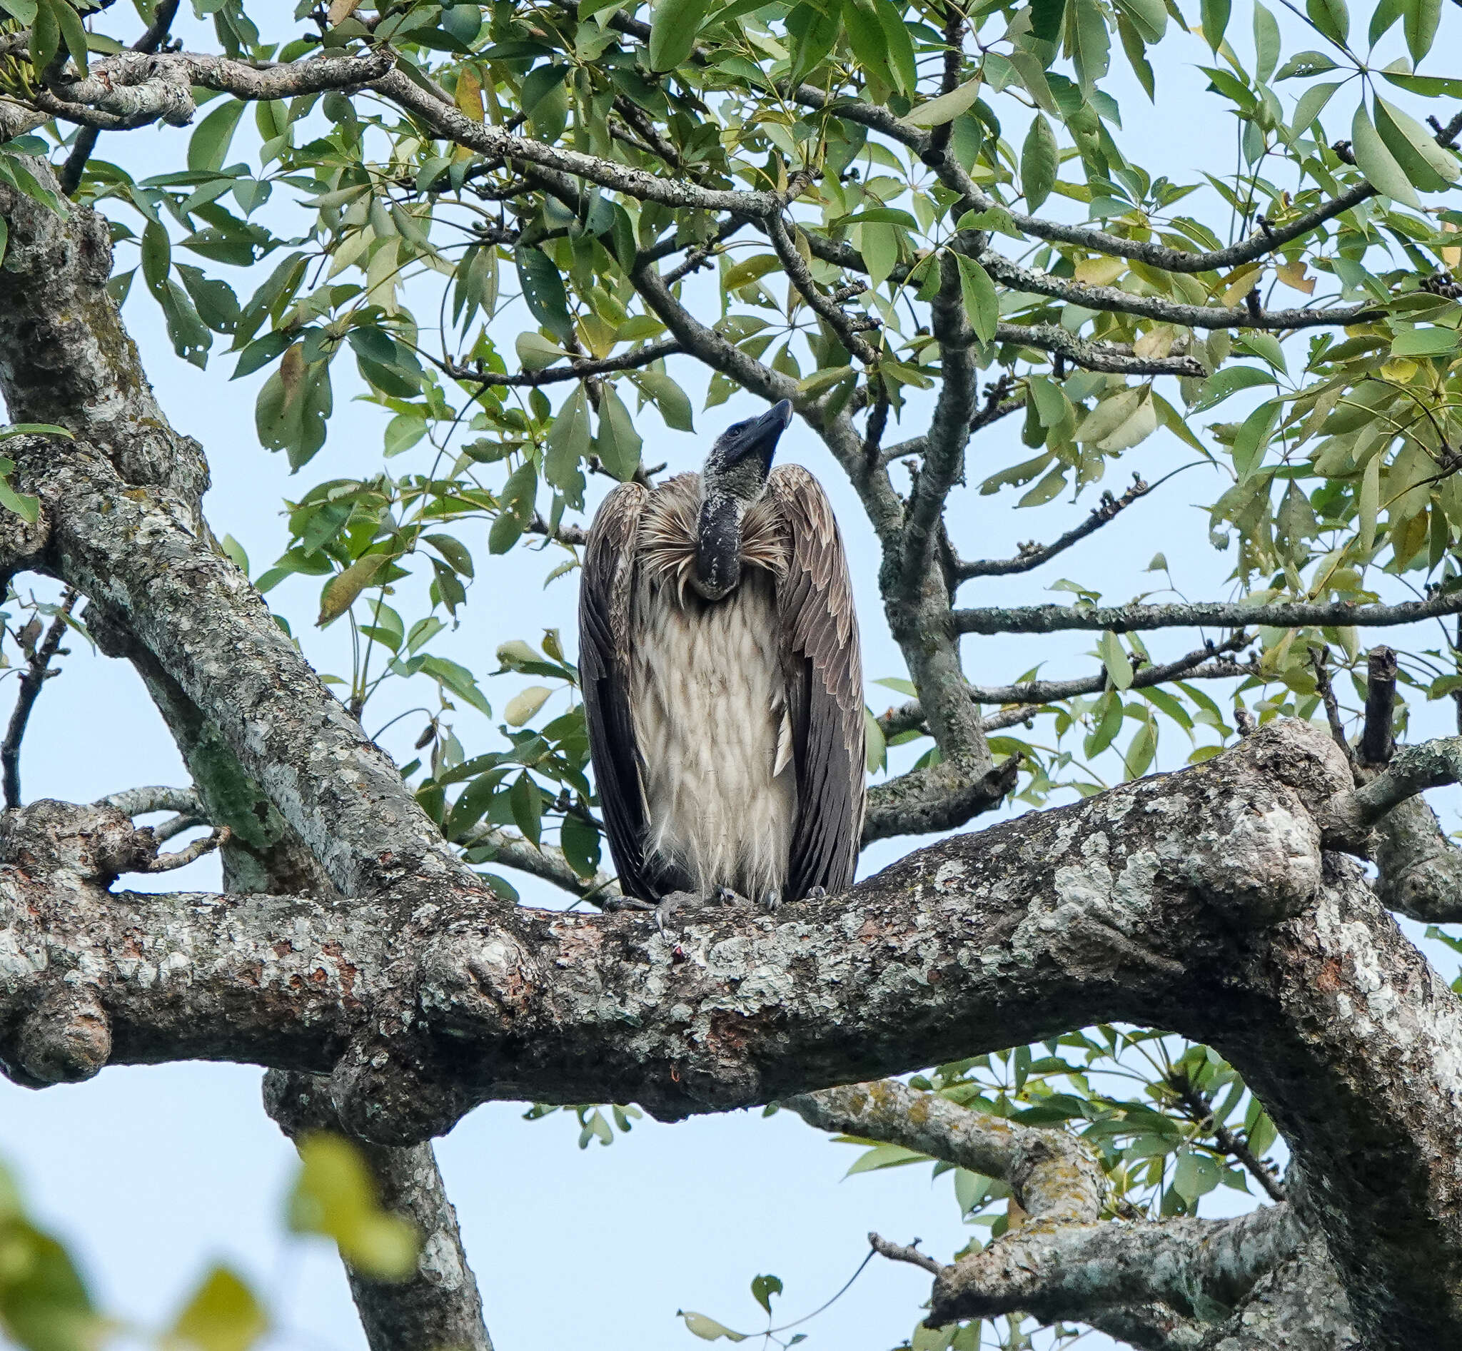
[(1424, 601), (1396, 605), (1357, 605), (1352, 601), (1197, 601), (1173, 605), (1018, 605), (956, 610), (956, 633), (1063, 633), (1072, 629), (1140, 633), (1148, 629), (1237, 629), (1265, 624), (1272, 629), (1319, 626), (1390, 626), (1462, 614), (1462, 589), (1437, 591)]

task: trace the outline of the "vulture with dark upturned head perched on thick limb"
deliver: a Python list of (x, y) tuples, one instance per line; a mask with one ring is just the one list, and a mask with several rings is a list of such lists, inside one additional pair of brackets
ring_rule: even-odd
[(772, 469), (785, 399), (700, 474), (617, 487), (589, 531), (579, 674), (610, 849), (640, 902), (784, 899), (852, 880), (863, 670), (842, 538)]

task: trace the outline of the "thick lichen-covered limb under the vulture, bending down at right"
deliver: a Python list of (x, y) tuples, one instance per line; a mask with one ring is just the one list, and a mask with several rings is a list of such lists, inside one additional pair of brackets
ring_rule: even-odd
[[(123, 828), (34, 804), (0, 855), (0, 1050), (35, 1073), (37, 1038), (64, 1062), (99, 1021), (114, 1062), (330, 1073), (349, 1129), (406, 1143), (485, 1098), (680, 1116), (1089, 1022), (1175, 1026), (1273, 1111), (1314, 1178), (1298, 1214), (1374, 1344), (1446, 1345), (1462, 1336), (1462, 1010), (1357, 870), (1322, 855), (1317, 817), (1349, 787), (1329, 738), (1282, 724), (943, 841), (846, 896), (692, 911), (670, 934), (503, 911), (450, 879), (412, 915), (111, 896)], [(61, 1006), (42, 1018), (45, 997)]]

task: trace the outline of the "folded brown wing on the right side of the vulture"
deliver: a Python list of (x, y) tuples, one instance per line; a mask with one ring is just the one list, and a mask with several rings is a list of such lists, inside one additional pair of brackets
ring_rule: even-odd
[(792, 716), (797, 823), (787, 895), (846, 890), (864, 811), (863, 658), (842, 537), (822, 484), (800, 465), (772, 471), (788, 532), (778, 583), (782, 667)]

